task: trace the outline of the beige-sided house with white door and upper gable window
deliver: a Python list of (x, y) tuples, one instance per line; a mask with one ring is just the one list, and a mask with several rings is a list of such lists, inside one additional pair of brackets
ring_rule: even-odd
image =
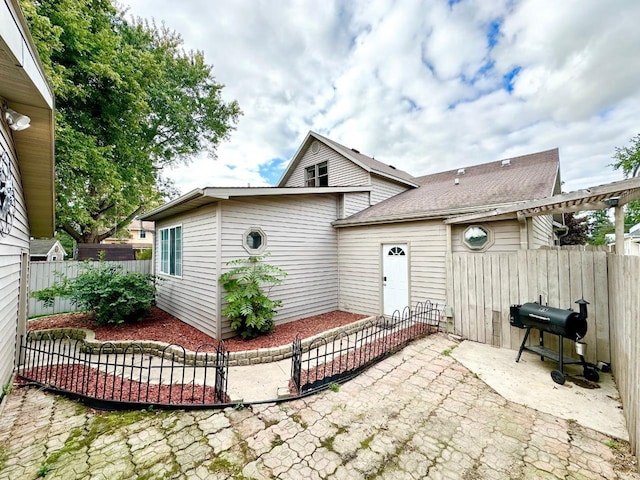
[(197, 189), (141, 218), (155, 222), (158, 306), (227, 338), (217, 279), (230, 260), (268, 251), (288, 273), (270, 292), (276, 324), (443, 304), (449, 253), (554, 242), (551, 216), (452, 220), (557, 193), (558, 150), (414, 177), (309, 132), (277, 186)]

